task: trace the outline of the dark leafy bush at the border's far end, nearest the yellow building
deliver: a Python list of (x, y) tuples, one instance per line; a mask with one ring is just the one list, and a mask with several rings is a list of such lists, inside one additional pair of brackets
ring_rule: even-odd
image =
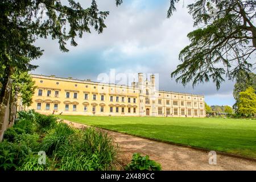
[(35, 121), (39, 125), (39, 130), (43, 131), (52, 129), (57, 124), (57, 118), (54, 115), (43, 115), (36, 113)]

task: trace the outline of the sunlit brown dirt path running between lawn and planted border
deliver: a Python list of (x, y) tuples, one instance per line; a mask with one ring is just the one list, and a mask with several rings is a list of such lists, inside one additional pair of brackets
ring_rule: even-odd
[[(81, 128), (86, 125), (65, 121), (73, 127)], [(130, 162), (134, 152), (149, 155), (150, 159), (160, 163), (163, 170), (256, 170), (256, 162), (217, 154), (217, 164), (208, 163), (208, 152), (189, 147), (176, 146), (149, 139), (134, 137), (108, 131), (119, 146), (119, 159), (123, 165)]]

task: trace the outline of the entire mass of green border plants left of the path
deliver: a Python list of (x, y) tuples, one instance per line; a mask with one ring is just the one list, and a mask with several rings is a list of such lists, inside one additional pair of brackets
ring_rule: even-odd
[[(117, 147), (101, 130), (73, 129), (53, 115), (20, 112), (0, 142), (0, 171), (115, 169)], [(39, 151), (46, 164), (38, 164)]]

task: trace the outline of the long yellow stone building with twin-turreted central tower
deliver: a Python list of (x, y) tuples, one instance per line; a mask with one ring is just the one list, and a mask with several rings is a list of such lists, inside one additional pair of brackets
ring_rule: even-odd
[(32, 105), (42, 114), (205, 117), (204, 96), (155, 89), (138, 74), (131, 86), (31, 75), (37, 86)]

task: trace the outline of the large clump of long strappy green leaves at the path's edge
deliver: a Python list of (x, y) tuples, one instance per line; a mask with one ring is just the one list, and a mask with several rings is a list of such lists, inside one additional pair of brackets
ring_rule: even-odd
[(60, 170), (86, 171), (110, 170), (115, 167), (117, 149), (113, 140), (101, 130), (93, 128), (77, 130), (69, 144), (57, 152)]

